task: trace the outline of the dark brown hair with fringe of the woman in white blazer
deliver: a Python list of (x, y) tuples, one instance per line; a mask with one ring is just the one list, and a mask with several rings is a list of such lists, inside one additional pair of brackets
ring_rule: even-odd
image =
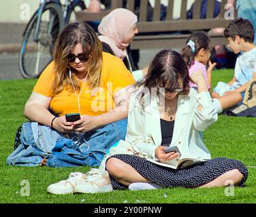
[[(183, 91), (180, 94), (189, 94), (189, 70), (182, 56), (172, 50), (161, 50), (150, 62), (146, 79), (140, 86), (149, 91), (152, 88), (159, 90), (161, 87), (175, 90), (182, 79)], [(150, 92), (151, 93), (151, 92)]]

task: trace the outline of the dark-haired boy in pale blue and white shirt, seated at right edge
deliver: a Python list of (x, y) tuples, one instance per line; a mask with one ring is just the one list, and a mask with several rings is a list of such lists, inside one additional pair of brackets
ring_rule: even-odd
[(230, 22), (225, 28), (224, 36), (228, 46), (235, 54), (241, 54), (236, 60), (234, 77), (228, 83), (219, 82), (214, 88), (212, 97), (230, 96), (240, 93), (244, 97), (248, 82), (253, 79), (256, 72), (256, 45), (253, 43), (255, 35), (253, 24), (249, 20), (238, 18)]

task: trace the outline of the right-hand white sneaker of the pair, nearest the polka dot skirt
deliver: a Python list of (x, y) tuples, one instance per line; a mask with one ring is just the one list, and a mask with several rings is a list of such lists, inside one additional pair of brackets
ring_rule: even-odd
[(74, 193), (103, 193), (113, 191), (108, 171), (102, 174), (98, 169), (87, 173), (87, 179), (74, 187)]

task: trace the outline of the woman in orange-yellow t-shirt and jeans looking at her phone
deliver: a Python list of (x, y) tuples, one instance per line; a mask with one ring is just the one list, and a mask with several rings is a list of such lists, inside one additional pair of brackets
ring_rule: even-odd
[[(40, 149), (44, 146), (46, 150), (47, 146), (49, 154), (56, 145), (54, 142), (69, 138), (83, 153), (89, 151), (90, 156), (101, 151), (100, 157), (93, 155), (90, 161), (76, 165), (99, 165), (106, 150), (125, 139), (128, 98), (134, 85), (123, 61), (102, 52), (101, 42), (91, 26), (85, 22), (68, 24), (56, 41), (54, 61), (39, 77), (25, 104), (25, 116), (51, 131), (50, 137), (54, 135), (53, 142), (48, 138), (40, 140), (39, 143), (44, 143), (39, 144)], [(69, 113), (79, 113), (80, 119), (67, 121), (65, 115)], [(7, 163), (14, 165), (10, 158)], [(50, 165), (72, 165), (65, 159), (54, 162)]]

